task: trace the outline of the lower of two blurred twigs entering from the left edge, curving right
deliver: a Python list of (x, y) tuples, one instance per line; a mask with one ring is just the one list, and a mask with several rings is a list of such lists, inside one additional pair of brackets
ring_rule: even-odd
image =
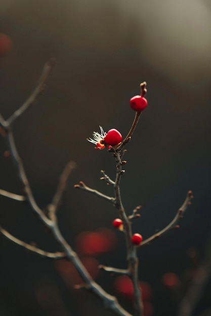
[(45, 250), (41, 250), (35, 246), (32, 246), (30, 244), (27, 244), (26, 242), (14, 237), (13, 235), (11, 235), (7, 230), (5, 230), (4, 228), (2, 228), (2, 226), (0, 225), (0, 232), (7, 237), (9, 240), (11, 240), (12, 242), (14, 242), (15, 244), (26, 248), (27, 250), (30, 250), (32, 252), (36, 252), (37, 254), (39, 254), (42, 257), (48, 257), (51, 259), (61, 259), (66, 257), (64, 252), (48, 252)]

